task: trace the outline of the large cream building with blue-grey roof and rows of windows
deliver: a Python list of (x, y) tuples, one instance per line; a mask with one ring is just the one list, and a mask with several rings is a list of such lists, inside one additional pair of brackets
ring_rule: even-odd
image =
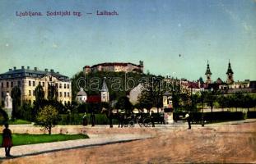
[(4, 99), (7, 93), (11, 93), (12, 89), (17, 86), (21, 89), (21, 103), (35, 101), (35, 88), (41, 85), (44, 89), (44, 97), (48, 98), (48, 89), (50, 85), (56, 86), (58, 93), (58, 101), (61, 103), (71, 103), (72, 101), (72, 86), (71, 80), (65, 75), (54, 72), (54, 70), (39, 71), (37, 67), (34, 70), (29, 66), (26, 68), (21, 66), (21, 69), (9, 69), (4, 74), (0, 74), (0, 103), (4, 106)]

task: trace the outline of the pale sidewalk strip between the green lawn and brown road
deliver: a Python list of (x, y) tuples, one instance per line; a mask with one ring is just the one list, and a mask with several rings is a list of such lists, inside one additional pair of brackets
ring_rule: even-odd
[[(86, 148), (105, 144), (123, 143), (138, 139), (148, 139), (151, 137), (152, 136), (150, 134), (107, 134), (101, 136), (98, 135), (90, 139), (76, 139), (44, 144), (27, 144), (12, 147), (11, 155), (12, 157), (23, 157), (40, 153), (50, 153), (54, 151), (67, 150), (72, 148)], [(0, 160), (12, 157), (5, 157), (4, 148), (0, 148)]]

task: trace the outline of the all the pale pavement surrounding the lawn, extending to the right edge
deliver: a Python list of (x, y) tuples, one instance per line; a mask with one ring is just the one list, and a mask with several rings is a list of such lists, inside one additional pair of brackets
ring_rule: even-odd
[[(247, 119), (243, 121), (228, 121), (215, 124), (207, 124), (205, 127), (215, 127), (215, 126), (226, 126), (226, 125), (237, 125), (256, 122), (256, 119)], [(200, 128), (201, 125), (192, 125), (193, 128)], [(11, 130), (18, 131), (19, 129), (31, 129), (32, 125), (11, 125)], [(37, 127), (35, 127), (36, 129)], [(96, 125), (95, 127), (87, 126), (83, 127), (81, 125), (67, 125), (56, 127), (56, 133), (58, 130), (65, 129), (68, 134), (77, 134), (82, 132), (82, 134), (88, 134), (90, 139), (77, 139), (69, 141), (60, 141), (54, 143), (45, 144), (28, 144), (15, 146), (11, 149), (12, 157), (24, 157), (30, 155), (36, 155), (40, 153), (51, 153), (54, 151), (61, 151), (72, 148), (86, 148), (95, 147), (105, 144), (116, 144), (122, 142), (129, 142), (138, 139), (149, 139), (156, 135), (156, 133), (147, 133), (148, 131), (162, 131), (162, 130), (186, 130), (188, 128), (187, 122), (179, 121), (169, 125), (156, 125), (155, 128), (140, 128), (136, 125), (134, 128), (118, 128), (114, 125), (113, 129), (109, 129), (108, 125)], [(203, 127), (202, 127), (203, 128)], [(71, 130), (71, 131), (68, 131)], [(27, 130), (26, 130), (27, 131)], [(35, 130), (37, 132), (37, 129)], [(144, 133), (145, 132), (145, 133)], [(42, 133), (42, 132), (41, 132)], [(9, 159), (12, 157), (5, 157), (4, 148), (0, 148), (0, 162), (1, 160)]]

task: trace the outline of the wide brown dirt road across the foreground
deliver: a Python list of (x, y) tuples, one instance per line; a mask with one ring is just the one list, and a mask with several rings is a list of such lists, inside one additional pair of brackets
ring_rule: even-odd
[(157, 129), (153, 139), (78, 148), (2, 163), (256, 163), (256, 123)]

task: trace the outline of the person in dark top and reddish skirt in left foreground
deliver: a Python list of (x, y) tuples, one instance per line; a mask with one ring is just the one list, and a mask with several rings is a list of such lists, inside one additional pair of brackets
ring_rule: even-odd
[(10, 151), (12, 148), (12, 131), (8, 129), (9, 125), (5, 124), (5, 129), (2, 130), (2, 147), (5, 150), (6, 157), (12, 157)]

